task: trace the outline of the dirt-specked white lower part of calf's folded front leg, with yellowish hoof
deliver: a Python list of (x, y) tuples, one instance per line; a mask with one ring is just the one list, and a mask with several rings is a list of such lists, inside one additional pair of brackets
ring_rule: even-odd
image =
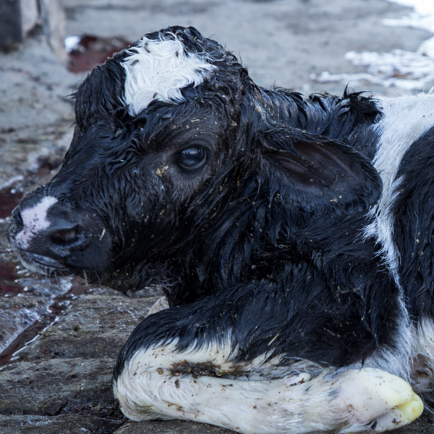
[[(115, 398), (128, 418), (191, 420), (244, 434), (349, 433), (400, 427), (423, 410), (406, 381), (379, 369), (246, 381), (245, 376), (231, 375), (244, 365), (227, 361), (230, 345), (192, 345), (177, 352), (174, 344), (138, 349), (114, 379)], [(257, 368), (268, 365), (273, 370), (278, 362), (265, 360), (266, 355), (256, 358), (250, 368), (256, 363)], [(219, 376), (177, 372), (174, 365), (183, 363), (193, 370), (194, 364), (214, 366)]]

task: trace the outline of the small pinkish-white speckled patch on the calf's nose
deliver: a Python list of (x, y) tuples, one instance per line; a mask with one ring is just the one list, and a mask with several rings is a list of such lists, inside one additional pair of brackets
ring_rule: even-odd
[(57, 202), (56, 197), (46, 196), (39, 204), (21, 211), (24, 228), (15, 237), (15, 242), (21, 249), (29, 247), (30, 241), (40, 230), (49, 227), (47, 211)]

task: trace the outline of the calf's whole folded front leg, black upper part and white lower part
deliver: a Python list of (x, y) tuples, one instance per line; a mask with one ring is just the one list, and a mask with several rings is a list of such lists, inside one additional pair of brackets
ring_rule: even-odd
[[(246, 309), (264, 301), (260, 289), (243, 296), (249, 300)], [(260, 325), (243, 329), (236, 298), (229, 292), (164, 309), (138, 325), (119, 355), (113, 379), (115, 397), (128, 418), (191, 420), (245, 434), (301, 434), (381, 432), (421, 414), (423, 405), (410, 385), (388, 372), (325, 368), (291, 358), (290, 345), (276, 354), (279, 333), (258, 333)], [(263, 304), (260, 310), (268, 311)], [(290, 317), (288, 312), (286, 323), (277, 327), (293, 327)], [(258, 318), (257, 324), (266, 322)], [(262, 348), (253, 342), (261, 336), (268, 340), (268, 351), (240, 360), (248, 345)]]

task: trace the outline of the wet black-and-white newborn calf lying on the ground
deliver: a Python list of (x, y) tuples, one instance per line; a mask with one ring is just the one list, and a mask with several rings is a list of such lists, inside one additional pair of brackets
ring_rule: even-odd
[(430, 399), (433, 95), (261, 89), (218, 43), (172, 27), (94, 69), (76, 120), (10, 240), (39, 272), (163, 286), (115, 366), (128, 418), (296, 434), (421, 414), (409, 383)]

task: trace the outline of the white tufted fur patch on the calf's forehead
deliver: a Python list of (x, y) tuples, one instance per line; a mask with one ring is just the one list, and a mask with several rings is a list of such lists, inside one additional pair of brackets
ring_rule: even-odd
[(130, 115), (137, 115), (154, 99), (182, 101), (181, 89), (201, 84), (215, 66), (205, 62), (206, 53), (187, 53), (178, 39), (152, 40), (143, 36), (129, 48), (122, 62), (125, 69), (124, 102)]

